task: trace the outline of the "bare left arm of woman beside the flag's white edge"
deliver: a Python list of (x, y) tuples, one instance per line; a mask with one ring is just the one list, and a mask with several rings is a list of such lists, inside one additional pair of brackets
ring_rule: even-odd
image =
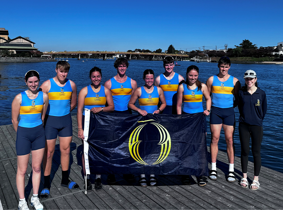
[(84, 87), (81, 89), (81, 91), (79, 91), (79, 97), (78, 97), (78, 110), (77, 110), (77, 122), (78, 122), (78, 137), (80, 139), (84, 139), (84, 135), (83, 135), (83, 129), (82, 128), (82, 109), (83, 106), (85, 104), (85, 98), (87, 95), (87, 87)]

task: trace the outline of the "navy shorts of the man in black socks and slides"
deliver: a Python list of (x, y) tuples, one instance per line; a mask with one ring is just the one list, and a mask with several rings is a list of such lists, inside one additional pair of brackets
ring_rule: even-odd
[(65, 116), (45, 115), (44, 129), (47, 140), (59, 137), (73, 136), (72, 117), (71, 114)]

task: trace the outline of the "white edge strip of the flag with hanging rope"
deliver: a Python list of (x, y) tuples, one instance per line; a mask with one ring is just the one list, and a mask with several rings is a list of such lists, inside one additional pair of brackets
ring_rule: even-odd
[[(90, 110), (85, 109), (85, 127), (83, 129), (83, 135), (85, 137), (83, 142), (83, 155), (85, 158), (85, 169), (86, 169), (86, 176), (90, 174), (89, 170), (89, 143), (87, 142), (89, 138), (89, 117), (90, 117)], [(87, 192), (85, 191), (85, 194)]]

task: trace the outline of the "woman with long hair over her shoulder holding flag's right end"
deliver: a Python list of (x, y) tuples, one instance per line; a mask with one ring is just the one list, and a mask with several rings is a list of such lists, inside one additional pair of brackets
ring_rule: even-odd
[[(191, 65), (187, 68), (186, 82), (179, 85), (177, 92), (177, 114), (186, 114), (194, 116), (195, 113), (203, 113), (208, 116), (211, 108), (211, 98), (207, 90), (207, 86), (198, 80), (199, 69), (195, 65)], [(202, 106), (202, 98), (204, 96), (206, 102), (206, 109)], [(182, 111), (182, 102), (184, 107)], [(204, 132), (207, 133), (207, 123), (205, 121)], [(185, 184), (190, 184), (190, 177), (183, 176), (182, 181)], [(205, 186), (207, 184), (207, 178), (205, 176), (197, 177), (197, 184), (199, 186)]]

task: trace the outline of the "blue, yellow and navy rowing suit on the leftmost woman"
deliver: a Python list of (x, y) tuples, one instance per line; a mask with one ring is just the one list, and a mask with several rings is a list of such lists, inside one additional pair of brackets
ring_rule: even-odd
[(30, 99), (26, 91), (21, 92), (20, 122), (17, 129), (17, 155), (27, 155), (31, 150), (45, 148), (45, 132), (42, 125), (43, 92)]

